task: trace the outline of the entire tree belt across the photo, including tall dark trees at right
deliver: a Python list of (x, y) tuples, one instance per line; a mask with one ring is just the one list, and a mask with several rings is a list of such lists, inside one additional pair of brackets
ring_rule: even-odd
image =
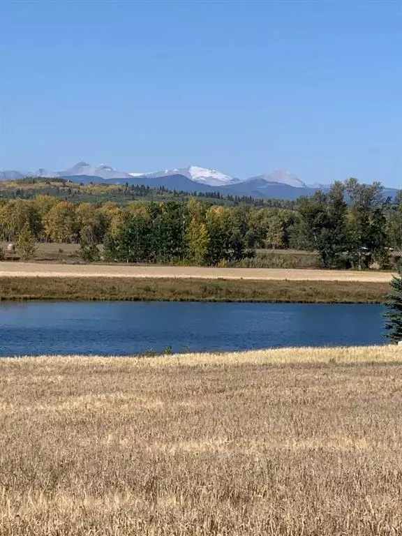
[[(87, 260), (225, 265), (256, 248), (315, 251), (324, 268), (389, 267), (402, 252), (402, 194), (385, 199), (380, 183), (336, 182), (292, 208), (236, 207), (196, 196), (167, 202), (70, 202), (50, 195), (0, 198), (0, 239), (24, 257), (36, 241), (80, 244)], [(29, 246), (31, 244), (31, 247)]]

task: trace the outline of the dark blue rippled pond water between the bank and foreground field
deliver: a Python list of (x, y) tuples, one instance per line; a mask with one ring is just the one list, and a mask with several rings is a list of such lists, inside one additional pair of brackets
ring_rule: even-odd
[(383, 306), (0, 302), (0, 355), (131, 355), (385, 343)]

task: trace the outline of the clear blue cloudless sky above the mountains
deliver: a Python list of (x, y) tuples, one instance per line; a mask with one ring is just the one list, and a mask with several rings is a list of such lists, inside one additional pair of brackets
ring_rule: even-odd
[(402, 186), (398, 1), (0, 1), (0, 169)]

